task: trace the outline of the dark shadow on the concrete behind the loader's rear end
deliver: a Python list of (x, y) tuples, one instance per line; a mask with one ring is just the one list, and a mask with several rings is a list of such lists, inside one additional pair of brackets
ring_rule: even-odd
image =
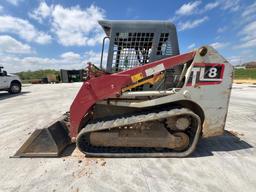
[(253, 148), (234, 133), (225, 131), (222, 136), (202, 139), (191, 157), (213, 156), (213, 152), (231, 152)]

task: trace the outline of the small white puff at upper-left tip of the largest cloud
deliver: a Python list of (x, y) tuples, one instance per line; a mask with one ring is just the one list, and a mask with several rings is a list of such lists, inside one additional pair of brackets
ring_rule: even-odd
[(51, 15), (51, 12), (52, 7), (49, 7), (45, 2), (41, 2), (37, 9), (29, 13), (29, 16), (42, 23), (43, 19)]

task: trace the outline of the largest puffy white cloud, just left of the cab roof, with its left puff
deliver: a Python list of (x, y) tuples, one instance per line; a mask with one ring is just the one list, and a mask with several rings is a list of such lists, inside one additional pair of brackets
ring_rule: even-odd
[(95, 5), (81, 9), (79, 6), (49, 7), (42, 2), (29, 15), (39, 22), (48, 19), (51, 31), (57, 36), (58, 42), (64, 46), (94, 46), (104, 37), (98, 20), (105, 18), (105, 11)]

